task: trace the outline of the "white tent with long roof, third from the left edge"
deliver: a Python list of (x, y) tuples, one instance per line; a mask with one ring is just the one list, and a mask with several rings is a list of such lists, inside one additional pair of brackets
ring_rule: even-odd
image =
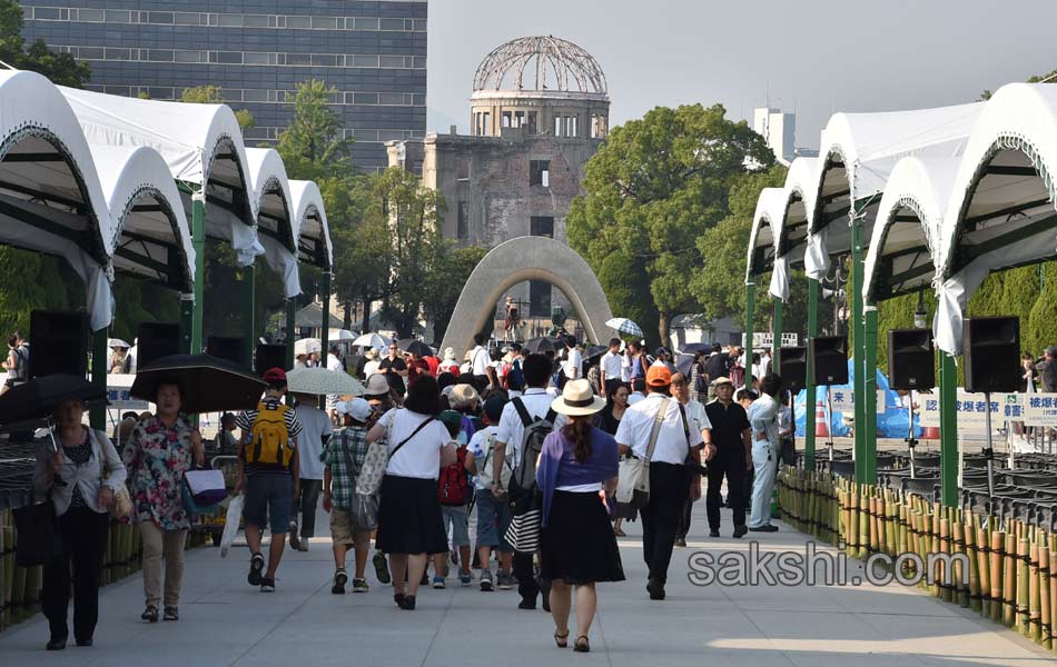
[[(206, 233), (228, 240), (243, 266), (264, 253), (243, 132), (225, 104), (141, 100), (59, 88), (89, 143), (155, 149), (178, 181), (205, 188)], [(181, 192), (184, 209), (190, 196)]]

